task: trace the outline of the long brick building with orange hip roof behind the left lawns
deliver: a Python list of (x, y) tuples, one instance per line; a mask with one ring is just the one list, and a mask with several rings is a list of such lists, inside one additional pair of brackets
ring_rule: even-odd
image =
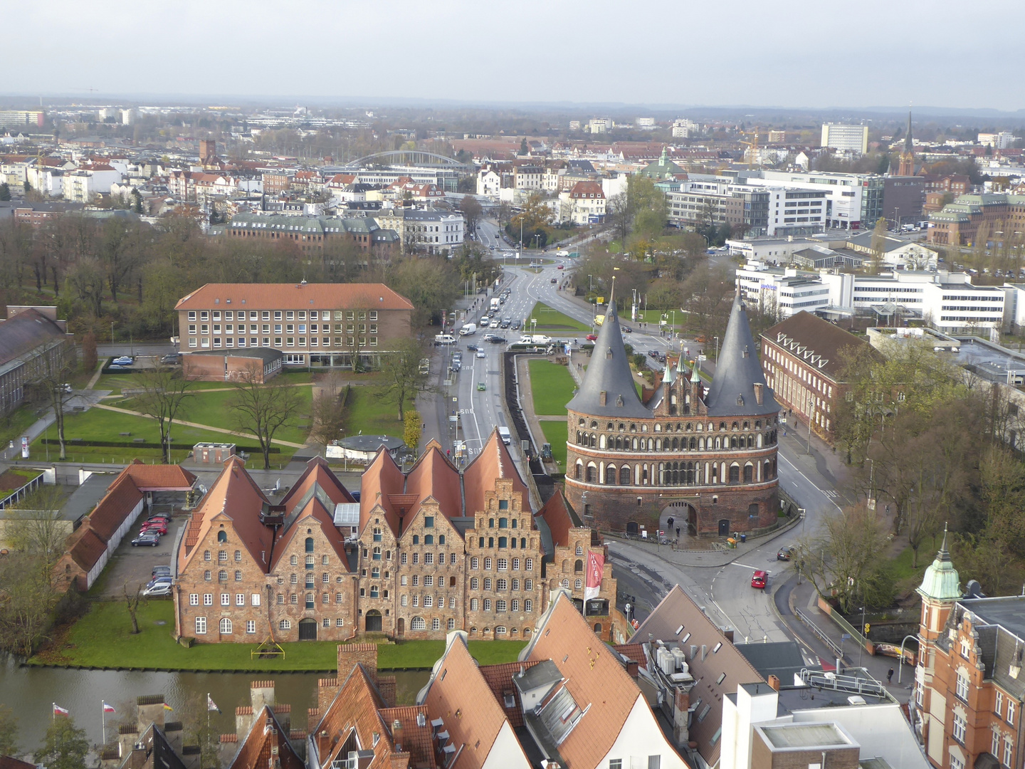
[(207, 283), (175, 310), (182, 353), (270, 348), (286, 368), (372, 368), (409, 336), (413, 305), (382, 283)]

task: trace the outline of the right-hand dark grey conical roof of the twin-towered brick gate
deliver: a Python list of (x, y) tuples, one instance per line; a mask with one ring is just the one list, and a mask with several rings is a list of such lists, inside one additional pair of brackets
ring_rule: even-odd
[[(762, 386), (762, 403), (755, 397), (755, 385)], [(739, 292), (733, 299), (730, 322), (723, 336), (723, 352), (705, 402), (709, 416), (762, 416), (779, 412), (779, 404), (766, 385), (758, 362), (758, 347), (751, 336), (747, 311)]]

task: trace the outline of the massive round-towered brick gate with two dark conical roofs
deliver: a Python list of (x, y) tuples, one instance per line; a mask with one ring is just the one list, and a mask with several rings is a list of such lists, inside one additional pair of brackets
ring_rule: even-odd
[(726, 536), (776, 521), (779, 404), (739, 297), (723, 339), (709, 390), (682, 356), (642, 401), (610, 298), (567, 407), (566, 496), (585, 526)]

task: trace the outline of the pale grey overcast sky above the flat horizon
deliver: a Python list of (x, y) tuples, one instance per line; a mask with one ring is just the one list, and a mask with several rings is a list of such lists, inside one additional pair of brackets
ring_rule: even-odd
[(1025, 107), (1021, 0), (4, 5), (8, 93)]

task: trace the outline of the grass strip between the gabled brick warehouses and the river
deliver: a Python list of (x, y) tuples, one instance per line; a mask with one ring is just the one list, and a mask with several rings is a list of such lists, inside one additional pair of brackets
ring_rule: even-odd
[[(96, 601), (89, 611), (56, 642), (29, 664), (81, 665), (83, 667), (148, 667), (196, 671), (334, 671), (338, 643), (305, 641), (282, 644), (285, 656), (253, 659), (258, 641), (244, 644), (196, 644), (187, 649), (175, 643), (174, 604), (165, 599), (139, 606), (139, 634), (123, 602)], [(470, 641), (469, 652), (482, 664), (514, 662), (525, 642)], [(407, 641), (381, 644), (377, 665), (382, 670), (429, 669), (445, 651), (444, 641)]]

